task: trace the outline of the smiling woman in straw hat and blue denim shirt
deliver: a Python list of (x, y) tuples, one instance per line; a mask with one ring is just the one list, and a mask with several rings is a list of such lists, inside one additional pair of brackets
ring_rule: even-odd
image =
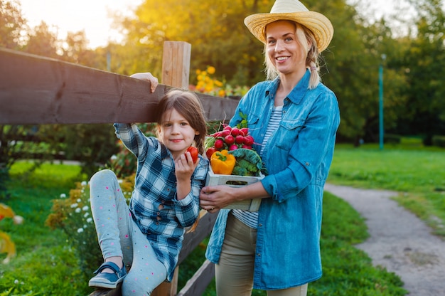
[(318, 58), (331, 22), (296, 0), (245, 18), (264, 43), (267, 78), (242, 98), (230, 126), (247, 115), (254, 149), (269, 174), (242, 187), (206, 186), (200, 206), (214, 213), (233, 201), (262, 199), (258, 212), (220, 210), (206, 257), (219, 296), (306, 295), (321, 277), (323, 186), (340, 123), (334, 93), (320, 82)]

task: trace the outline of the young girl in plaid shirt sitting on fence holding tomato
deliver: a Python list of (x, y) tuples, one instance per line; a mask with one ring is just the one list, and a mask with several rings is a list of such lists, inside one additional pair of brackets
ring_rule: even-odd
[[(99, 171), (90, 181), (104, 257), (89, 282), (92, 287), (114, 288), (122, 282), (122, 295), (150, 295), (161, 282), (172, 280), (184, 228), (197, 221), (209, 164), (201, 155), (193, 163), (186, 150), (195, 144), (204, 152), (202, 105), (193, 93), (172, 90), (156, 114), (158, 137), (144, 136), (135, 124), (114, 124), (117, 137), (137, 157), (129, 206), (112, 171)], [(131, 265), (128, 274), (125, 264)]]

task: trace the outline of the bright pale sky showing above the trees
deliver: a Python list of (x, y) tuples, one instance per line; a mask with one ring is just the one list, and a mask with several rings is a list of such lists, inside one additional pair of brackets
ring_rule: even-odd
[[(33, 28), (41, 21), (57, 28), (58, 38), (66, 39), (68, 32), (85, 31), (90, 48), (106, 46), (108, 41), (120, 41), (119, 34), (111, 28), (110, 12), (131, 15), (131, 11), (144, 0), (17, 0), (28, 25)], [(198, 0), (197, 0), (198, 1)], [(357, 0), (349, 0), (355, 2)], [(395, 5), (405, 0), (373, 0), (368, 9), (377, 18), (389, 14)], [(368, 10), (367, 9), (367, 10)]]

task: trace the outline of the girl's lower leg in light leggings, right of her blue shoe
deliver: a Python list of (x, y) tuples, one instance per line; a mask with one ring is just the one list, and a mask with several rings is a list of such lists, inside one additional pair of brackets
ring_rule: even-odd
[(122, 295), (150, 295), (167, 278), (165, 266), (158, 260), (146, 235), (132, 221), (133, 265), (122, 283)]

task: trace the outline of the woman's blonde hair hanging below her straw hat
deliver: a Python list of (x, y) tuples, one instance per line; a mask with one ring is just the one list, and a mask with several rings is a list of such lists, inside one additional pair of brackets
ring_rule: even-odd
[[(309, 89), (316, 88), (318, 83), (321, 82), (320, 75), (318, 74), (319, 65), (318, 58), (320, 53), (318, 52), (318, 47), (316, 43), (316, 39), (313, 36), (313, 33), (302, 26), (299, 23), (294, 21), (289, 21), (295, 26), (295, 36), (296, 42), (299, 43), (301, 52), (306, 56), (306, 68), (311, 71), (311, 78), (309, 80)], [(264, 32), (265, 33), (265, 32)], [(310, 48), (308, 46), (310, 44)], [(266, 77), (268, 80), (274, 80), (279, 75), (279, 71), (275, 68), (274, 64), (271, 60), (269, 60), (269, 55), (267, 54), (267, 44), (264, 45), (264, 64), (266, 68), (264, 72), (266, 73)]]

